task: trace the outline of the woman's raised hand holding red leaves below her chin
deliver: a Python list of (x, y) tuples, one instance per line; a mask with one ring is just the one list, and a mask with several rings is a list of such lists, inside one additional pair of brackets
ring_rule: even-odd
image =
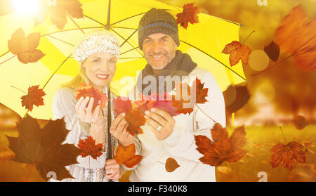
[(93, 111), (93, 102), (94, 98), (89, 98), (89, 97), (81, 97), (75, 108), (77, 115), (79, 119), (81, 119), (82, 122), (90, 123), (91, 125), (96, 125), (99, 127), (104, 126), (105, 124), (105, 117), (101, 115), (100, 112), (100, 105), (98, 105)]

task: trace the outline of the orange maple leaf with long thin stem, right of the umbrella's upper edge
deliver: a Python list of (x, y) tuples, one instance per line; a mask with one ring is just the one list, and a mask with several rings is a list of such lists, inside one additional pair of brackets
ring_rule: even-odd
[(239, 60), (242, 60), (242, 64), (246, 65), (249, 60), (251, 49), (245, 44), (241, 44), (239, 41), (232, 41), (227, 44), (222, 53), (230, 54), (230, 66), (236, 65)]

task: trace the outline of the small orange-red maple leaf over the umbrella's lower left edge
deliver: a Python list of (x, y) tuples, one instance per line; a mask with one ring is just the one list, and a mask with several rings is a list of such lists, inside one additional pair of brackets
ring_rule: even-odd
[(33, 105), (36, 105), (37, 107), (44, 105), (44, 99), (42, 97), (45, 95), (46, 93), (43, 91), (43, 89), (39, 89), (39, 85), (30, 86), (27, 91), (27, 95), (21, 97), (22, 107), (25, 106), (29, 112), (32, 112)]

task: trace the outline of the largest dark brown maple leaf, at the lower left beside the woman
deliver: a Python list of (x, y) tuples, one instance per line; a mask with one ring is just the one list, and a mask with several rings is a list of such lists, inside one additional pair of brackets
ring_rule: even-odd
[(9, 148), (15, 153), (15, 162), (32, 164), (44, 180), (49, 171), (57, 174), (57, 179), (73, 178), (65, 166), (77, 164), (79, 148), (72, 144), (62, 144), (69, 130), (64, 119), (49, 120), (43, 129), (36, 119), (29, 115), (17, 124), (18, 138), (9, 137)]

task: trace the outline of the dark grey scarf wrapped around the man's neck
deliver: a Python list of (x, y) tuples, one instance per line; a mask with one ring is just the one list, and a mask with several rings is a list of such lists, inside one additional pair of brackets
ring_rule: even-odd
[[(164, 91), (167, 91), (168, 89), (170, 89), (170, 85), (172, 85), (171, 89), (174, 89), (174, 82), (172, 82), (171, 84), (167, 84), (167, 82), (165, 82), (166, 80), (159, 80), (159, 76), (179, 76), (179, 77), (183, 77), (183, 76), (187, 76), (188, 74), (190, 74), (190, 72), (192, 70), (195, 69), (195, 67), (197, 67), (197, 63), (194, 63), (190, 57), (190, 55), (186, 54), (186, 53), (182, 53), (181, 51), (176, 51), (176, 56), (175, 58), (173, 58), (173, 60), (171, 60), (171, 62), (166, 65), (166, 67), (164, 67), (163, 70), (158, 70), (157, 73), (154, 73), (152, 70), (152, 67), (147, 63), (146, 67), (142, 70), (141, 74), (139, 74), (138, 79), (137, 79), (137, 89), (140, 92), (143, 92), (143, 90), (150, 85), (154, 85), (154, 84), (143, 84), (143, 80), (145, 77), (147, 76), (152, 76), (156, 79), (157, 82), (157, 88), (155, 92), (151, 92), (151, 93), (158, 93), (159, 94), (163, 94)], [(160, 86), (160, 90), (159, 90), (159, 86)], [(164, 89), (162, 89), (162, 86), (164, 86)], [(149, 94), (151, 94), (149, 93)], [(148, 96), (148, 95), (145, 95)]]

